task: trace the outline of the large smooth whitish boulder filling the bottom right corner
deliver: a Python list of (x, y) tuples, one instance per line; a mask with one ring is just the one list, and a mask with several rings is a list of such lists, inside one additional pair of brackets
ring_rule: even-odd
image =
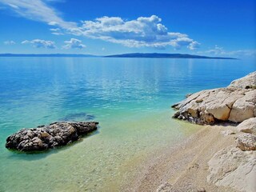
[(214, 154), (208, 166), (210, 174), (207, 182), (239, 191), (255, 191), (256, 151), (242, 151), (230, 146)]

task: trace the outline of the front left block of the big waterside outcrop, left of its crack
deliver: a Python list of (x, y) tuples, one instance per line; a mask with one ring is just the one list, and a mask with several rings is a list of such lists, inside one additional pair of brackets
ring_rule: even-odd
[(202, 90), (174, 105), (174, 108), (178, 109), (174, 118), (198, 124), (211, 124), (218, 120), (226, 121), (230, 118), (234, 102), (244, 97), (246, 91), (248, 90), (234, 88)]

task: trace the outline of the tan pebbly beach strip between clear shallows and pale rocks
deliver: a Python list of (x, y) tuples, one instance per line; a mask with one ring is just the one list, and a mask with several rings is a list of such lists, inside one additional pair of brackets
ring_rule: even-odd
[(236, 191), (206, 182), (210, 158), (234, 145), (234, 135), (223, 136), (221, 131), (233, 129), (228, 125), (202, 126), (190, 138), (138, 166), (134, 179), (124, 181), (122, 191)]

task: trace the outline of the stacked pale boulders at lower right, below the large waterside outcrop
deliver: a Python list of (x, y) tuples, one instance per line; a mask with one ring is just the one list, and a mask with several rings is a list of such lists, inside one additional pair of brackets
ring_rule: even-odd
[[(230, 186), (235, 190), (254, 192), (256, 189), (256, 118), (249, 118), (236, 129), (236, 146), (226, 147), (208, 162), (207, 182)], [(236, 131), (236, 132), (237, 132)]]

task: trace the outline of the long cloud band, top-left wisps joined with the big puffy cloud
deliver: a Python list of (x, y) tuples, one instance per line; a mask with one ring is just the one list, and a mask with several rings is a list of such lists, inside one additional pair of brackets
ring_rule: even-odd
[(199, 43), (187, 34), (168, 30), (162, 24), (162, 19), (156, 15), (130, 21), (105, 16), (82, 23), (66, 22), (53, 7), (48, 5), (50, 1), (52, 0), (0, 0), (3, 5), (24, 18), (54, 26), (51, 32), (56, 35), (74, 34), (129, 47), (146, 46), (164, 49), (166, 46), (172, 46), (175, 50), (182, 47), (194, 50), (199, 46)]

